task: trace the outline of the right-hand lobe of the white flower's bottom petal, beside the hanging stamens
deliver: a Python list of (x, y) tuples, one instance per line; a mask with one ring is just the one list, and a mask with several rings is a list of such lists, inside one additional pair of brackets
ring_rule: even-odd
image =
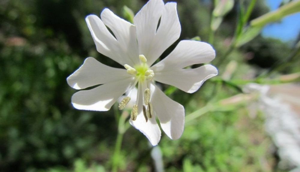
[(150, 84), (151, 103), (161, 128), (171, 139), (178, 139), (184, 129), (184, 107), (164, 94), (155, 84)]

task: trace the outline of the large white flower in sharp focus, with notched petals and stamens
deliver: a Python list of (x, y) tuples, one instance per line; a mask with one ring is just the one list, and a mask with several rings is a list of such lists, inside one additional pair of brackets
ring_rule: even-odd
[[(134, 25), (109, 9), (102, 11), (101, 19), (89, 15), (85, 20), (97, 51), (127, 70), (112, 68), (88, 57), (67, 78), (67, 82), (74, 89), (102, 85), (76, 92), (72, 96), (73, 106), (76, 109), (107, 111), (119, 97), (137, 85), (137, 95), (128, 95), (137, 96), (130, 124), (146, 135), (152, 145), (156, 145), (161, 138), (161, 130), (155, 120), (157, 117), (167, 136), (178, 139), (184, 128), (184, 107), (158, 89), (155, 81), (188, 93), (197, 91), (205, 80), (217, 75), (217, 69), (211, 65), (184, 68), (213, 60), (215, 51), (211, 45), (180, 41), (166, 58), (153, 65), (179, 38), (181, 26), (174, 2), (164, 4), (162, 0), (150, 0), (134, 17)], [(121, 104), (125, 106), (125, 100)]]

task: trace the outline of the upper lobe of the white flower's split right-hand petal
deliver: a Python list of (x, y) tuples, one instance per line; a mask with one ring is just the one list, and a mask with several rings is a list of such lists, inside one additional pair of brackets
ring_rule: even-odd
[(208, 43), (183, 40), (166, 58), (152, 66), (152, 70), (182, 69), (190, 65), (210, 62), (214, 57), (215, 51)]

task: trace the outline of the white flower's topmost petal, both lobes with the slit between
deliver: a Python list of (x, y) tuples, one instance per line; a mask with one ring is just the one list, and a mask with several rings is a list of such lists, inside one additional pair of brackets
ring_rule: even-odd
[(164, 5), (162, 0), (150, 0), (134, 17), (134, 24), (140, 54), (146, 56), (149, 66), (179, 38), (181, 32), (174, 2)]

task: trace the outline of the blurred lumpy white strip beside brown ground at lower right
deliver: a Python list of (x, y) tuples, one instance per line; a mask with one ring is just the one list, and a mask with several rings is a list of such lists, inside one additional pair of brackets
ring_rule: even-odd
[[(250, 83), (244, 91), (260, 93), (259, 105), (265, 114), (265, 129), (278, 147), (280, 167), (300, 169), (300, 118), (288, 104), (268, 95), (270, 86)], [(295, 169), (297, 171), (297, 169)]]

